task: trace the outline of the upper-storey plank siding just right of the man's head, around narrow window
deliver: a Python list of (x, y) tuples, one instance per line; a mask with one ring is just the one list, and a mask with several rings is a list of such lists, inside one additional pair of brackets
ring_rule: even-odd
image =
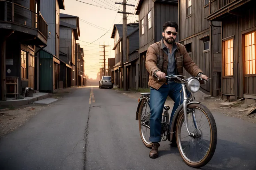
[(184, 39), (209, 28), (205, 19), (209, 6), (204, 8), (204, 0), (192, 0), (192, 15), (186, 16), (186, 0), (179, 0), (179, 39)]

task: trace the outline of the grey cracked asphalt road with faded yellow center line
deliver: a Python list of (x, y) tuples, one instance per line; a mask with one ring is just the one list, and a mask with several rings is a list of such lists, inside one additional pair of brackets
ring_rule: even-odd
[[(86, 87), (55, 104), (0, 141), (0, 170), (193, 169), (168, 141), (160, 143), (159, 158), (149, 158), (135, 120), (136, 99)], [(201, 169), (255, 170), (256, 124), (213, 115), (217, 148)]]

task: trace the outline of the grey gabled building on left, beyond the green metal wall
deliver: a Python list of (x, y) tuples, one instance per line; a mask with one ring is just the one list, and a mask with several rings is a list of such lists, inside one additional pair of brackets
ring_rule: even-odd
[(77, 62), (75, 56), (80, 53), (76, 51), (76, 40), (80, 36), (79, 17), (60, 14), (59, 35), (59, 59), (61, 62), (60, 86), (63, 88), (77, 86)]

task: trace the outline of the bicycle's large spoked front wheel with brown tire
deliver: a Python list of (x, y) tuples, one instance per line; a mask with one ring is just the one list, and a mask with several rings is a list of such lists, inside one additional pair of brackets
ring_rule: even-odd
[(190, 167), (206, 165), (216, 149), (217, 127), (211, 112), (201, 104), (187, 107), (188, 129), (186, 130), (183, 110), (179, 113), (176, 125), (176, 142), (184, 162)]

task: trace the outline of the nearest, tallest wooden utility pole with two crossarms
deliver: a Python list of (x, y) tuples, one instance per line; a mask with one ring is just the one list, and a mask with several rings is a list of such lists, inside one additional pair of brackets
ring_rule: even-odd
[[(123, 14), (123, 49), (122, 49), (122, 59), (121, 59), (121, 66), (123, 68), (123, 90), (128, 90), (127, 89), (127, 77), (126, 77), (126, 67), (124, 67), (123, 65), (123, 57), (127, 57), (127, 41), (126, 41), (126, 37), (127, 37), (127, 17), (126, 17), (126, 14), (132, 14), (130, 12), (126, 12), (126, 6), (133, 6), (134, 5), (131, 5), (131, 4), (127, 4), (126, 3), (126, 0), (123, 0), (123, 2), (115, 2), (115, 4), (120, 4), (120, 5), (123, 5), (123, 11), (118, 11), (118, 13), (120, 14)], [(121, 77), (122, 78), (122, 77)]]

